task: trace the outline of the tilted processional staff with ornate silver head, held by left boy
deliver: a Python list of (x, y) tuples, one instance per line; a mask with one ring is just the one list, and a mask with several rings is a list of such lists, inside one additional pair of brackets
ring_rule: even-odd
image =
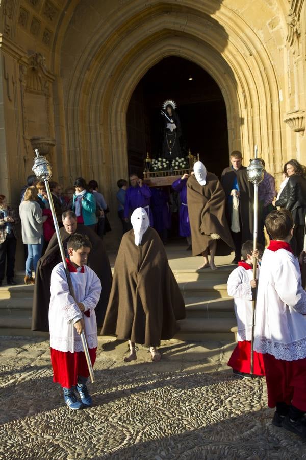
[[(60, 252), (61, 252), (62, 262), (63, 262), (63, 265), (64, 265), (64, 270), (65, 270), (65, 273), (66, 273), (66, 277), (67, 277), (67, 283), (68, 283), (69, 291), (70, 291), (70, 294), (73, 297), (75, 303), (77, 303), (77, 300), (75, 299), (74, 289), (73, 289), (73, 286), (72, 286), (72, 283), (71, 283), (70, 272), (69, 272), (68, 267), (67, 267), (64, 246), (63, 246), (62, 238), (61, 238), (61, 235), (60, 235), (59, 224), (58, 224), (55, 209), (54, 209), (52, 193), (51, 193), (50, 187), (49, 187), (49, 180), (52, 177), (51, 165), (46, 160), (45, 156), (40, 156), (39, 155), (38, 149), (35, 149), (35, 153), (36, 153), (37, 158), (35, 158), (35, 160), (34, 160), (34, 166), (32, 168), (32, 171), (34, 172), (34, 174), (36, 175), (38, 180), (43, 180), (44, 183), (45, 183), (45, 187), (46, 187), (46, 191), (47, 191), (47, 195), (48, 195), (48, 200), (49, 200), (49, 204), (50, 204), (50, 210), (51, 210), (52, 217), (53, 217), (55, 232), (56, 232), (56, 236), (57, 236), (57, 240), (58, 240), (59, 248), (60, 248)], [(87, 347), (87, 342), (86, 342), (84, 331), (82, 331), (82, 333), (81, 333), (81, 340), (82, 340), (82, 344), (83, 344), (83, 349), (84, 349), (84, 353), (85, 353), (86, 362), (87, 362), (87, 365), (88, 365), (90, 380), (91, 380), (91, 383), (93, 383), (94, 382), (93, 367), (92, 367), (92, 364), (91, 364), (91, 360), (90, 360), (90, 356), (89, 356), (89, 352), (88, 352), (88, 347)]]

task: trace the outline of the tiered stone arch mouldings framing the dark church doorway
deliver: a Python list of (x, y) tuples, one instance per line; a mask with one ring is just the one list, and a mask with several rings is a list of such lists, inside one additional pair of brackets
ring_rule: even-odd
[(191, 60), (210, 73), (226, 104), (229, 150), (242, 150), (247, 163), (257, 143), (273, 172), (282, 146), (278, 84), (263, 44), (226, 9), (216, 21), (190, 8), (189, 27), (182, 31), (186, 8), (171, 6), (170, 27), (163, 5), (151, 8), (149, 16), (142, 11), (129, 18), (138, 21), (137, 29), (125, 24), (124, 39), (109, 38), (98, 47), (95, 36), (95, 47), (92, 43), (73, 68), (65, 92), (71, 175), (98, 174), (107, 190), (115, 190), (116, 177), (127, 173), (125, 114), (131, 94), (148, 68), (167, 56)]

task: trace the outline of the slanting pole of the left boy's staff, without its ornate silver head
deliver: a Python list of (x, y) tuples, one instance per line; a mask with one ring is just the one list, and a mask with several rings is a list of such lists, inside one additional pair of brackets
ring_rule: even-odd
[[(36, 153), (37, 157), (40, 157), (38, 149), (35, 149), (35, 153)], [(56, 213), (55, 213), (55, 208), (54, 208), (52, 193), (50, 191), (49, 182), (48, 182), (47, 178), (43, 178), (43, 181), (45, 183), (45, 187), (46, 187), (46, 191), (47, 191), (47, 195), (48, 195), (48, 199), (49, 199), (50, 210), (51, 210), (52, 217), (53, 217), (55, 233), (56, 233), (58, 243), (59, 243), (60, 253), (61, 253), (62, 262), (63, 262), (63, 265), (64, 265), (64, 270), (65, 270), (65, 273), (66, 273), (66, 277), (67, 277), (67, 283), (68, 283), (69, 291), (70, 291), (70, 294), (73, 297), (75, 303), (77, 303), (77, 300), (75, 299), (74, 289), (73, 289), (73, 286), (72, 286), (72, 283), (71, 283), (70, 272), (69, 272), (68, 267), (67, 267), (64, 246), (63, 246), (63, 242), (62, 242), (62, 238), (61, 238), (61, 234), (60, 234), (60, 228), (59, 228), (59, 224), (58, 224)], [(82, 344), (83, 344), (83, 349), (84, 349), (84, 353), (85, 353), (86, 362), (87, 362), (87, 365), (88, 365), (90, 381), (91, 381), (91, 383), (93, 383), (94, 382), (93, 367), (92, 367), (92, 364), (91, 364), (91, 360), (90, 360), (90, 356), (89, 356), (89, 352), (88, 352), (88, 346), (87, 346), (84, 331), (82, 331), (82, 333), (81, 333), (81, 340), (82, 340)]]

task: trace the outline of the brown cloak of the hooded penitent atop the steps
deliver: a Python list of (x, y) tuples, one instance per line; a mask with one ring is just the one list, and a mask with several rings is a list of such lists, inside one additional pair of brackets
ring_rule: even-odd
[(230, 229), (225, 218), (225, 193), (217, 176), (207, 172), (206, 185), (201, 186), (192, 175), (187, 181), (187, 203), (191, 228), (192, 255), (199, 256), (209, 249), (210, 236), (216, 233), (217, 256), (234, 250)]

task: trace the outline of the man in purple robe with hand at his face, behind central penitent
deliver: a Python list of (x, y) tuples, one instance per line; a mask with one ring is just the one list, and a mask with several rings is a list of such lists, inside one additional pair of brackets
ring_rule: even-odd
[(150, 188), (138, 178), (137, 174), (130, 174), (131, 187), (126, 190), (124, 204), (124, 220), (129, 222), (129, 216), (137, 208), (144, 208), (150, 219), (150, 226), (153, 226), (153, 215), (150, 209)]

